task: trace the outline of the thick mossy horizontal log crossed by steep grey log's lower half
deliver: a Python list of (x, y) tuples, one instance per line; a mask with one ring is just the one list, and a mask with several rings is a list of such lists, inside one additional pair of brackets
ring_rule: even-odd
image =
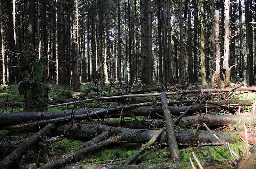
[[(77, 124), (59, 126), (53, 132), (54, 135), (64, 135), (66, 137), (76, 137), (83, 140), (88, 140), (96, 137), (100, 133), (109, 130), (111, 126), (100, 126), (92, 124)], [(112, 127), (112, 130), (119, 130), (119, 134), (127, 137), (126, 141), (131, 143), (147, 143), (154, 137), (159, 129), (127, 129), (123, 127)], [(245, 140), (244, 130), (241, 131), (215, 131), (215, 134), (224, 142), (235, 143), (241, 141), (240, 137)], [(178, 130), (175, 132), (176, 140), (179, 145), (197, 145), (198, 142), (202, 145), (220, 145), (214, 136), (208, 131), (199, 130)], [(256, 144), (256, 137), (253, 131), (248, 132), (249, 144)], [(166, 132), (162, 135), (159, 143), (168, 143)]]

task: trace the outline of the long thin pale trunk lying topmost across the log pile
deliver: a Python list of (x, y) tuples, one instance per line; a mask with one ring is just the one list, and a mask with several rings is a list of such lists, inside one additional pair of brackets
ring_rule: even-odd
[[(229, 92), (229, 91), (256, 91), (256, 87), (252, 88), (213, 88), (213, 89), (199, 89), (199, 90), (181, 90), (175, 92), (166, 92), (166, 95), (178, 95), (178, 94), (185, 94), (185, 93), (208, 93), (208, 92)], [(132, 97), (144, 97), (144, 96), (159, 96), (161, 93), (148, 93), (148, 94), (137, 94), (137, 95), (119, 95), (119, 96), (112, 96), (112, 97), (96, 97), (92, 99), (84, 99), (81, 101), (76, 102), (68, 102), (63, 104), (56, 104), (50, 105), (49, 107), (58, 107), (58, 106), (66, 106), (71, 104), (76, 104), (77, 102), (91, 102), (94, 100), (109, 100), (109, 99), (120, 99), (120, 98), (132, 98)]]

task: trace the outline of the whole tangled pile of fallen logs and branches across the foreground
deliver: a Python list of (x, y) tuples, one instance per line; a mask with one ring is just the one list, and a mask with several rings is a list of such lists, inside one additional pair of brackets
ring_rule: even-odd
[[(161, 89), (161, 88), (159, 88)], [(72, 109), (48, 112), (22, 112), (0, 114), (0, 130), (13, 130), (21, 128), (41, 129), (29, 139), (19, 141), (0, 142), (0, 168), (29, 168), (32, 165), (18, 165), (21, 157), (33, 147), (39, 140), (42, 143), (55, 142), (66, 138), (77, 138), (85, 143), (64, 157), (44, 165), (41, 168), (102, 168), (105, 165), (69, 165), (79, 162), (88, 153), (106, 148), (116, 143), (130, 142), (141, 143), (142, 146), (124, 165), (109, 164), (108, 168), (250, 168), (256, 165), (255, 147), (249, 151), (249, 144), (256, 144), (255, 132), (251, 130), (256, 117), (252, 114), (243, 115), (245, 106), (252, 106), (248, 100), (168, 100), (168, 95), (187, 93), (256, 91), (256, 88), (231, 88), (231, 89), (198, 89), (181, 90), (173, 92), (138, 94), (139, 91), (130, 92), (130, 95), (116, 95), (107, 97), (94, 97), (79, 99), (74, 102), (50, 105), (49, 107), (66, 106), (79, 102), (91, 102), (95, 100), (111, 100), (133, 97), (160, 96), (159, 102), (142, 102), (120, 106), (110, 106), (97, 109)], [(148, 90), (140, 91), (148, 92)], [(132, 94), (134, 93), (134, 94)], [(255, 109), (255, 105), (254, 105)], [(138, 119), (138, 116), (144, 116)], [(131, 117), (133, 120), (125, 120)], [(116, 118), (117, 120), (108, 120)], [(65, 123), (64, 123), (65, 122)], [(244, 130), (236, 130), (236, 126), (247, 125)], [(183, 130), (177, 130), (176, 126), (182, 126)], [(234, 126), (232, 131), (215, 130), (220, 126)], [(211, 127), (211, 129), (209, 128)], [(46, 136), (51, 138), (46, 138)], [(51, 139), (51, 141), (49, 141)], [(224, 145), (244, 141), (248, 152), (239, 157), (228, 148), (234, 161), (220, 162), (210, 160), (199, 162), (194, 156), (195, 163), (180, 163), (180, 145)], [(145, 144), (146, 143), (146, 144)], [(172, 164), (155, 165), (131, 165), (137, 158), (148, 150), (152, 145), (168, 145)], [(227, 144), (228, 145), (228, 144)], [(7, 148), (8, 147), (8, 148)], [(228, 146), (227, 146), (228, 147)], [(40, 156), (38, 156), (40, 157)], [(236, 162), (237, 159), (240, 159)], [(114, 161), (114, 160), (113, 160)], [(246, 163), (250, 161), (250, 164)], [(252, 161), (252, 162), (251, 162)], [(38, 164), (36, 164), (38, 165)], [(250, 166), (249, 166), (250, 165)], [(35, 167), (35, 166), (33, 166)], [(38, 167), (38, 166), (36, 166)]]

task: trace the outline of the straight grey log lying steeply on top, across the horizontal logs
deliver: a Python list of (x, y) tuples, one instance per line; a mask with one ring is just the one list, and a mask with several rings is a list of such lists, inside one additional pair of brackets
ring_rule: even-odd
[(175, 137), (175, 131), (172, 123), (172, 117), (167, 103), (166, 94), (161, 94), (162, 109), (165, 119), (166, 130), (168, 133), (168, 145), (171, 153), (171, 158), (174, 162), (180, 161), (179, 147)]

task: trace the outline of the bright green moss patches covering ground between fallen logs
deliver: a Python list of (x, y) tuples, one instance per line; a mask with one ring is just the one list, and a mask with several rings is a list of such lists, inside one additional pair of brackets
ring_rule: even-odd
[[(138, 83), (139, 84), (139, 83)], [(140, 85), (135, 83), (134, 88), (140, 89)], [(160, 85), (157, 84), (157, 85)], [(89, 92), (89, 93), (95, 93), (93, 90), (88, 91), (88, 87), (90, 86), (89, 83), (83, 83), (81, 85), (81, 92)], [(110, 83), (106, 83), (106, 86), (110, 86)], [(100, 86), (99, 86), (100, 88)], [(105, 87), (107, 88), (107, 87)], [(98, 95), (101, 94), (112, 94), (119, 91), (118, 85), (112, 85), (112, 88), (110, 91), (102, 91), (99, 92)], [(122, 91), (125, 91), (125, 88), (121, 89)], [(63, 87), (57, 84), (49, 84), (49, 97), (51, 98), (60, 98), (60, 99), (69, 99), (68, 96), (61, 95), (64, 91), (72, 92), (72, 87), (68, 86)], [(240, 95), (234, 95), (233, 97), (239, 97), (240, 100), (242, 99), (251, 99), (252, 101), (255, 101), (256, 94), (255, 93), (244, 93)], [(173, 100), (180, 98), (180, 95), (173, 95), (171, 97)], [(213, 98), (213, 97), (211, 97)], [(236, 99), (234, 98), (234, 99)], [(219, 98), (217, 98), (219, 99)], [(5, 101), (9, 102), (24, 102), (23, 95), (19, 95), (17, 86), (7, 86), (7, 87), (0, 87), (0, 102), (3, 103)], [(108, 107), (109, 105), (118, 105), (118, 103), (111, 103), (111, 102), (104, 102), (104, 101), (94, 101), (90, 102), (91, 108), (99, 108), (99, 107)], [(76, 109), (83, 109), (88, 105), (77, 105)], [(49, 111), (60, 111), (60, 110), (72, 110), (74, 108), (74, 105), (68, 105), (68, 106), (62, 106), (62, 107), (56, 107), (56, 108), (50, 108)], [(251, 111), (252, 107), (248, 108), (248, 111)], [(0, 108), (1, 113), (9, 113), (9, 112), (18, 112), (22, 111), (22, 108)], [(138, 119), (145, 119), (147, 117), (140, 116), (137, 117)], [(134, 120), (133, 117), (125, 117), (126, 120)], [(107, 119), (107, 120), (119, 120), (118, 119)], [(182, 124), (179, 125), (179, 127), (184, 128)], [(239, 126), (236, 126), (239, 127)], [(234, 128), (233, 126), (229, 127), (229, 130)], [(241, 129), (243, 129), (241, 127)], [(228, 130), (228, 129), (226, 129)], [(2, 130), (0, 131), (0, 141), (6, 141), (8, 139), (17, 140), (20, 139), (19, 137), (22, 137), (24, 139), (29, 138), (32, 135), (33, 131), (28, 131), (26, 129), (23, 130)], [(11, 137), (11, 136), (18, 136), (18, 137)], [(8, 139), (6, 139), (8, 138)], [(50, 158), (50, 160), (56, 160), (63, 155), (67, 154), (68, 152), (72, 151), (75, 148), (78, 148), (80, 145), (84, 144), (82, 141), (78, 140), (72, 140), (65, 138), (64, 140), (56, 143), (52, 143), (51, 145), (45, 145), (44, 148), (47, 151), (47, 154)], [(120, 144), (118, 146), (108, 147), (106, 149), (102, 149), (97, 152), (93, 152), (86, 156), (84, 159), (80, 161), (80, 163), (84, 164), (108, 164), (115, 156), (116, 156), (116, 163), (114, 164), (124, 164), (126, 162), (126, 159), (131, 158), (132, 155), (134, 155), (139, 149), (141, 144), (132, 144), (132, 143), (125, 143)], [(243, 142), (230, 144), (230, 147), (239, 155), (241, 156), (245, 151), (245, 144)], [(184, 146), (179, 147), (180, 149), (180, 155), (181, 155), (181, 162), (189, 162), (189, 157), (192, 156), (192, 151), (195, 152), (196, 157), (199, 159), (199, 161), (204, 161), (206, 158), (204, 155), (199, 151), (197, 147), (194, 146)], [(233, 160), (229, 151), (224, 146), (202, 146), (202, 151), (204, 152), (206, 157), (214, 158), (220, 161), (224, 160)], [(28, 151), (24, 158), (24, 164), (32, 164), (36, 163), (36, 159), (38, 156), (38, 151), (35, 151), (34, 149), (31, 149)], [(192, 158), (193, 159), (193, 158)], [(162, 149), (151, 149), (147, 150), (143, 155), (139, 157), (139, 159), (135, 162), (135, 164), (157, 164), (157, 163), (169, 163), (171, 162), (170, 158), (170, 152), (167, 147), (162, 147)]]

